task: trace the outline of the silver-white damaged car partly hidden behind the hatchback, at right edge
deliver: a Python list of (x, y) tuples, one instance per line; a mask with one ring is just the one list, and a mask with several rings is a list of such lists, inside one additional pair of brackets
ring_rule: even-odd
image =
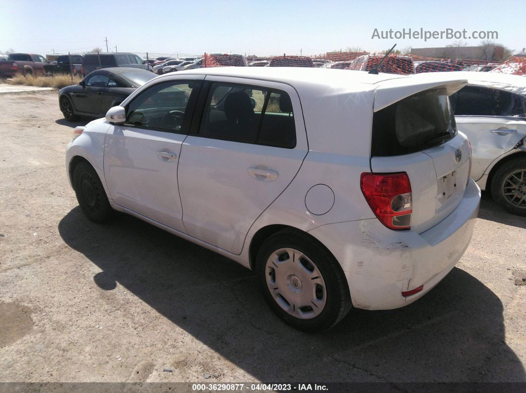
[(471, 177), (509, 213), (526, 216), (526, 78), (462, 72), (451, 96), (459, 131), (473, 150)]

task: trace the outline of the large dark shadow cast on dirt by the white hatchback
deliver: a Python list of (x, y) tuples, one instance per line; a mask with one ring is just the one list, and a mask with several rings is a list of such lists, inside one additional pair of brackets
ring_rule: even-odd
[(122, 284), (259, 380), (526, 381), (504, 341), (501, 301), (458, 268), (407, 307), (351, 310), (306, 334), (270, 312), (252, 272), (134, 217), (96, 225), (76, 207), (58, 230), (102, 269), (100, 288)]

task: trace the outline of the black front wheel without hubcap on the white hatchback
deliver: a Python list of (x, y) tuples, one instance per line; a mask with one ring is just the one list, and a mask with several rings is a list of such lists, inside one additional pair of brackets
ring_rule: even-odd
[(79, 162), (75, 166), (73, 189), (78, 205), (87, 218), (101, 224), (113, 216), (115, 210), (109, 204), (97, 172), (86, 161)]

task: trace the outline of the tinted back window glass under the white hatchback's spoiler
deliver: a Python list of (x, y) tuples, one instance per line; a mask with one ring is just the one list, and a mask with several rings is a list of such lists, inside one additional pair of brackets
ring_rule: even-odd
[(456, 134), (446, 90), (426, 90), (375, 112), (371, 155), (410, 154), (441, 144)]

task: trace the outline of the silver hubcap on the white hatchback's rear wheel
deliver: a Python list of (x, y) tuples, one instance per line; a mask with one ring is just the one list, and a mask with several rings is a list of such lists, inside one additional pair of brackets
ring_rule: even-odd
[(325, 281), (316, 265), (301, 251), (281, 248), (271, 253), (265, 273), (272, 298), (288, 314), (311, 319), (325, 308)]

